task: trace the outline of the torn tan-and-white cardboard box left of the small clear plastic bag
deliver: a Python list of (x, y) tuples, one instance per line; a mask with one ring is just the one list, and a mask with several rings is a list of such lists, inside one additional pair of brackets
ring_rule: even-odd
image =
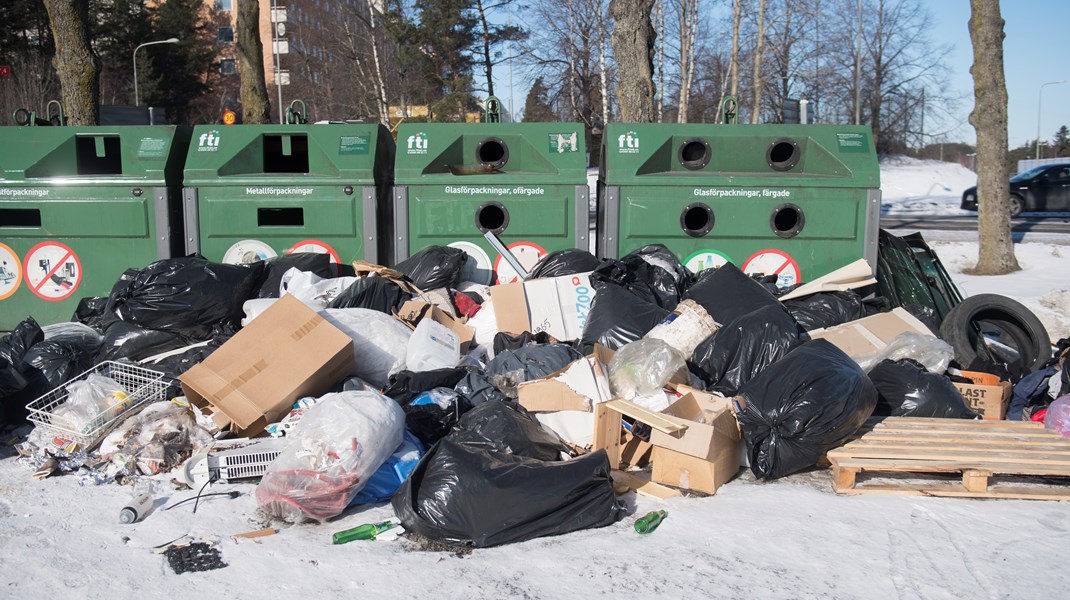
[(533, 413), (587, 411), (611, 398), (609, 364), (613, 351), (595, 345), (592, 354), (546, 378), (517, 386), (520, 405)]

